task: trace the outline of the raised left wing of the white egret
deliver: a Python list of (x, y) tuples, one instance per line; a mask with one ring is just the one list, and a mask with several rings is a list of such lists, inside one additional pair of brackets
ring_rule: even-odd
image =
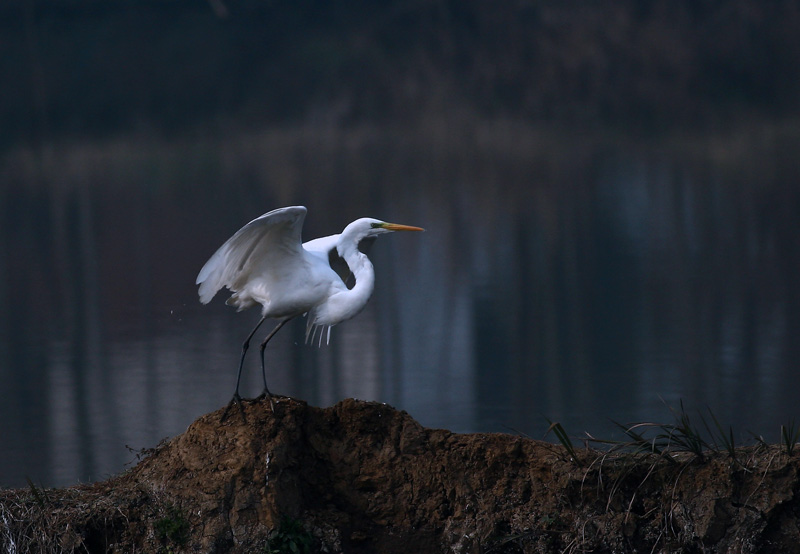
[(258, 267), (300, 258), (304, 206), (290, 206), (257, 217), (229, 238), (197, 275), (200, 302), (208, 304), (223, 287), (237, 292)]

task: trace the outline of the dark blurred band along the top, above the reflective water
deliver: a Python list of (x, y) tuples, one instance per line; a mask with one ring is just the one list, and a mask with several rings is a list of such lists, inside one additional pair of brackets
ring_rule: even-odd
[(42, 115), (57, 136), (453, 110), (661, 129), (800, 98), (791, 0), (101, 4), (0, 7), (4, 144)]

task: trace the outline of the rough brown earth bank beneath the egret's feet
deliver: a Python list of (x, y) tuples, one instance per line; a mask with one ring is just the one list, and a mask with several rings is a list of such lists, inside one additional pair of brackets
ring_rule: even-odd
[[(4, 552), (800, 552), (785, 446), (609, 454), (280, 398), (202, 416), (128, 472), (0, 491)], [(574, 454), (574, 455), (573, 455)]]

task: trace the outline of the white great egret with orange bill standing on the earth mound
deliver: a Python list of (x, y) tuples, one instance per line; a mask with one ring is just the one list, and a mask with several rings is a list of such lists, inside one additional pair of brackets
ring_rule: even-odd
[[(300, 234), (306, 217), (304, 206), (279, 208), (257, 217), (229, 238), (206, 262), (197, 275), (200, 302), (208, 304), (217, 291), (227, 287), (233, 293), (226, 304), (238, 311), (261, 304), (261, 319), (242, 344), (236, 390), (222, 415), (224, 420), (232, 404), (239, 406), (244, 420), (239, 382), (250, 339), (267, 318), (278, 325), (261, 343), (261, 376), (264, 391), (272, 404), (264, 368), (264, 349), (287, 321), (307, 314), (306, 341), (337, 323), (357, 315), (375, 287), (372, 262), (362, 252), (365, 246), (383, 233), (422, 231), (419, 227), (386, 223), (378, 219), (357, 219), (338, 235), (322, 237), (301, 244)], [(359, 249), (361, 248), (361, 249)], [(355, 284), (347, 286), (355, 277)]]

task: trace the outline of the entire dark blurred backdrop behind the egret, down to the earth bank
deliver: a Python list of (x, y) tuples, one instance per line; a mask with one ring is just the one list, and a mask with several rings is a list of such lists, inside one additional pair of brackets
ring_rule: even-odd
[(779, 441), (799, 33), (788, 1), (3, 2), (0, 485), (117, 473), (224, 405), (258, 314), (197, 271), (294, 204), (306, 239), (427, 232), (378, 241), (330, 346), (281, 331), (277, 393), (536, 438), (683, 401)]

